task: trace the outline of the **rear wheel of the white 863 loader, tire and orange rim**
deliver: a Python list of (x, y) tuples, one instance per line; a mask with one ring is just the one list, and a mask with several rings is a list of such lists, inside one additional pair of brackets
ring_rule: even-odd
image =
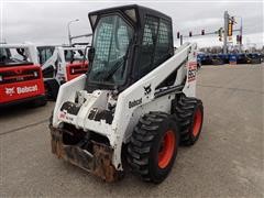
[(175, 107), (179, 124), (180, 144), (194, 145), (200, 136), (204, 121), (201, 100), (182, 95)]

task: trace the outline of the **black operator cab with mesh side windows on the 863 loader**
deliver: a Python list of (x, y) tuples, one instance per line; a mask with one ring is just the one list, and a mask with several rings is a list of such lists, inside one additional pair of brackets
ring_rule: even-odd
[(89, 13), (87, 90), (122, 91), (174, 55), (172, 19), (136, 4)]

